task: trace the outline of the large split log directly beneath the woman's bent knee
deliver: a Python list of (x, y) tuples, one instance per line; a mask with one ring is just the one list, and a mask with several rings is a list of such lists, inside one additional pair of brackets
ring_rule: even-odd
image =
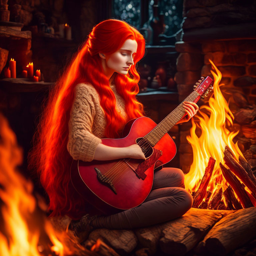
[(162, 224), (160, 249), (183, 256), (190, 251), (223, 216), (233, 211), (189, 209), (182, 217)]

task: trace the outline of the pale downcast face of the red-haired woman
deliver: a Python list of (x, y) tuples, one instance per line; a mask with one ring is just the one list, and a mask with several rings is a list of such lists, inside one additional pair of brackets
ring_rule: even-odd
[(136, 40), (127, 39), (116, 52), (106, 56), (106, 66), (113, 71), (126, 75), (136, 54), (138, 44)]

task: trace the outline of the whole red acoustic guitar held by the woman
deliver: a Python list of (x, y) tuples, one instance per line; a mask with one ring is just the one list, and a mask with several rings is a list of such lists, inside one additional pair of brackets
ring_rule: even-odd
[[(213, 89), (208, 76), (194, 85), (194, 91), (184, 100), (197, 102)], [(209, 87), (210, 86), (210, 87)], [(209, 88), (208, 88), (209, 87)], [(138, 144), (146, 160), (124, 158), (110, 161), (73, 161), (71, 181), (78, 193), (103, 214), (113, 214), (140, 205), (153, 185), (154, 169), (168, 163), (176, 154), (176, 146), (168, 131), (184, 117), (182, 103), (158, 125), (148, 117), (130, 120), (122, 139), (102, 139), (111, 147)]]

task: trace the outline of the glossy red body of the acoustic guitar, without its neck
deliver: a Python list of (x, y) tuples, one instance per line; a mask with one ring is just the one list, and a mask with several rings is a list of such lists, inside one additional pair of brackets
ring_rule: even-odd
[[(148, 134), (156, 125), (148, 117), (132, 119), (123, 129), (124, 138), (102, 139), (102, 144), (111, 147), (128, 147), (136, 144), (136, 139)], [(99, 210), (99, 213), (113, 214), (136, 207), (146, 199), (151, 191), (154, 169), (169, 162), (175, 156), (176, 145), (166, 133), (151, 150), (153, 153), (162, 152), (157, 158), (154, 158), (153, 153), (149, 157), (146, 155), (145, 161), (127, 158), (91, 162), (74, 160), (70, 170), (72, 184), (87, 202)], [(150, 166), (144, 171), (146, 175), (144, 179), (135, 172), (143, 162), (149, 163)], [(100, 180), (96, 170), (105, 181), (109, 182), (108, 184)]]

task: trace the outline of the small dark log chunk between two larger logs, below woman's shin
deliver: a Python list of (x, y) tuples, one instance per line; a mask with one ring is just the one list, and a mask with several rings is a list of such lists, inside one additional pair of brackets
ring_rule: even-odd
[(162, 232), (160, 226), (155, 225), (147, 228), (139, 228), (134, 230), (134, 232), (138, 238), (138, 243), (140, 244), (140, 246), (142, 246), (143, 248), (147, 248), (150, 255), (155, 254), (158, 240)]

